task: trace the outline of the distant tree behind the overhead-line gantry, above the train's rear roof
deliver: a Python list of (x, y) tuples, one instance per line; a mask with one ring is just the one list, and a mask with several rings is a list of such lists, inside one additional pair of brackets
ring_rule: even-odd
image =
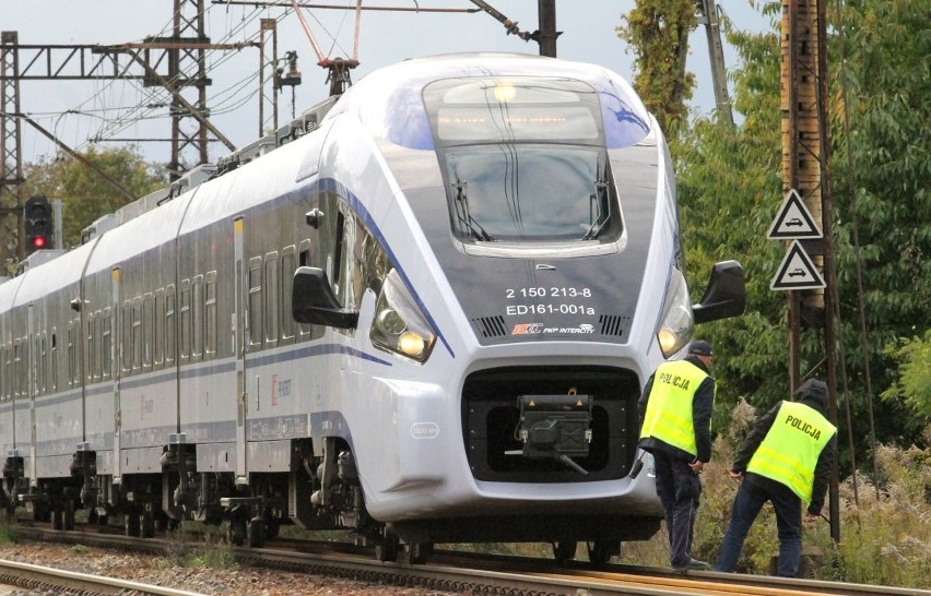
[(43, 159), (24, 168), (26, 193), (45, 194), (63, 202), (64, 246), (81, 243), (81, 230), (97, 218), (131, 203), (133, 200), (165, 186), (165, 176), (148, 165), (133, 147), (96, 151), (81, 154), (87, 162), (119, 182), (132, 194), (125, 196), (96, 171), (71, 157)]

